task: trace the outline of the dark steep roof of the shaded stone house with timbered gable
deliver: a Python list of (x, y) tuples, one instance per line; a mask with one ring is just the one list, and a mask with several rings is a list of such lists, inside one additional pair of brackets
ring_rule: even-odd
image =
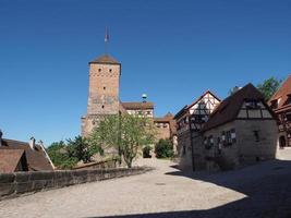
[[(267, 104), (264, 101), (264, 96), (262, 93), (259, 93), (259, 90), (256, 89), (253, 84), (248, 83), (246, 86), (229, 96), (222, 102), (220, 102), (220, 105), (218, 105), (202, 131), (210, 130), (234, 120), (238, 117), (241, 106), (245, 99), (262, 100), (262, 102), (265, 104), (265, 107), (269, 109)], [(269, 112), (274, 114), (270, 109)]]

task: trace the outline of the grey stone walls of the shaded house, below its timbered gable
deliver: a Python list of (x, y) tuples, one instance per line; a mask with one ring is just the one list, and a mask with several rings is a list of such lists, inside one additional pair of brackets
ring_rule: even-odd
[[(230, 131), (231, 129), (235, 129), (235, 143), (228, 146), (223, 145), (219, 155), (219, 161), (221, 164), (223, 159), (222, 164), (226, 168), (233, 169), (276, 157), (278, 126), (275, 120), (235, 120), (205, 132), (203, 136), (213, 135), (214, 137), (214, 147), (205, 149), (205, 157), (215, 157), (218, 146), (217, 138), (221, 137), (222, 131)], [(254, 132), (257, 132), (258, 138)], [(207, 161), (206, 164), (207, 170), (217, 168), (215, 161)]]

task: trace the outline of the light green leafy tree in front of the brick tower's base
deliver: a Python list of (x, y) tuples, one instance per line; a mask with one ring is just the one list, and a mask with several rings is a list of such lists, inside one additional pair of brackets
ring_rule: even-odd
[(133, 159), (146, 145), (153, 144), (155, 131), (153, 121), (145, 117), (131, 114), (107, 116), (94, 129), (90, 140), (105, 149), (113, 147), (118, 150), (129, 168)]

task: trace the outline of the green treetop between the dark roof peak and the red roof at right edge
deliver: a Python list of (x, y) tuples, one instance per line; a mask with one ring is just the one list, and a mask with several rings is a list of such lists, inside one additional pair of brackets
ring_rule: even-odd
[(257, 85), (258, 90), (264, 95), (265, 100), (268, 101), (276, 90), (280, 87), (282, 81), (275, 77), (265, 80), (262, 84)]

